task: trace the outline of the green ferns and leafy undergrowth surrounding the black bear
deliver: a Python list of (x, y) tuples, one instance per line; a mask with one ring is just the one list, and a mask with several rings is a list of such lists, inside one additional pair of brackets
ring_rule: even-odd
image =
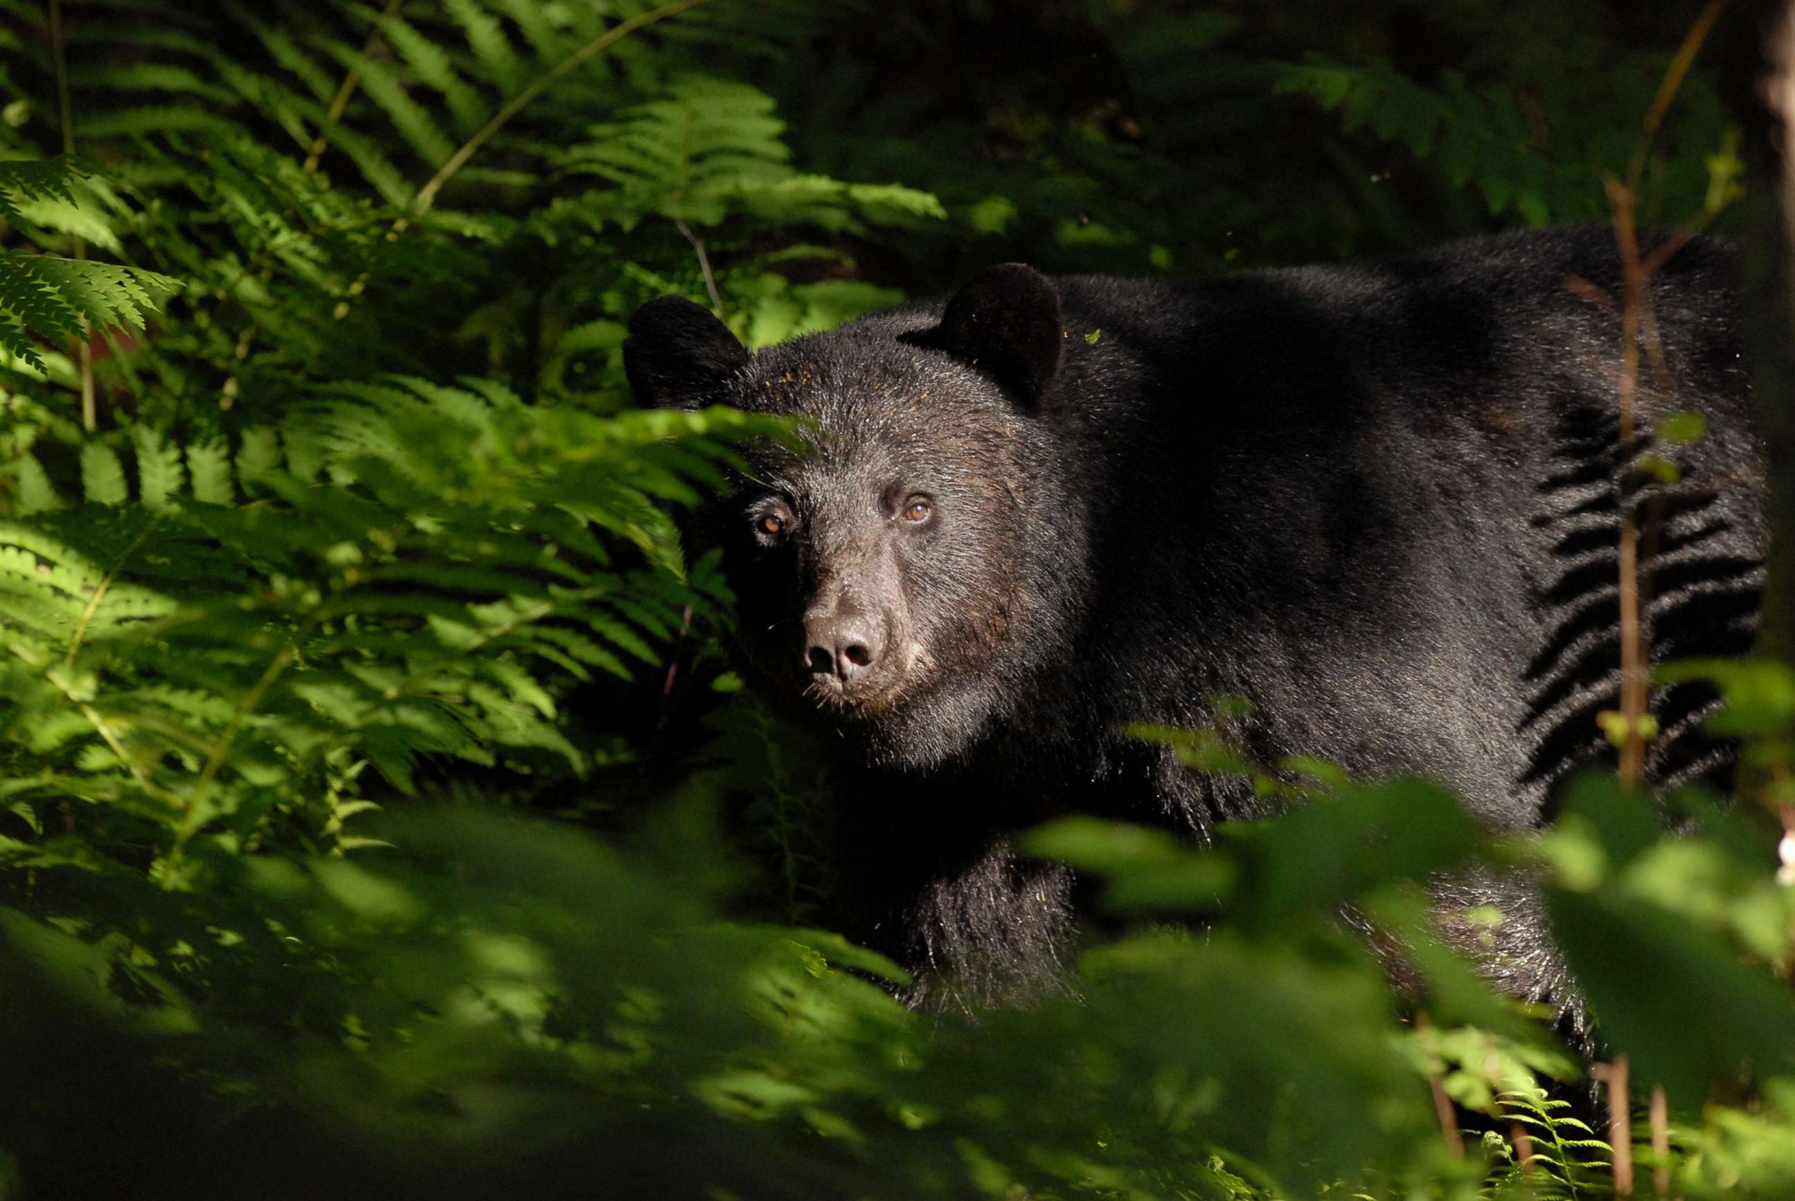
[[(763, 346), (1612, 181), (1734, 232), (1703, 59), (1635, 154), (1698, 5), (1348, 13), (0, 0), (0, 1197), (1795, 1196), (1777, 662), (1668, 668), (1738, 797), (1598, 770), (1526, 838), (1142, 731), (1291, 811), (1034, 831), (1142, 921), (976, 1016), (829, 932), (824, 759), (727, 670), (677, 515), (788, 431), (634, 408), (644, 300)], [(1475, 871), (1601, 1047), (1440, 939)]]

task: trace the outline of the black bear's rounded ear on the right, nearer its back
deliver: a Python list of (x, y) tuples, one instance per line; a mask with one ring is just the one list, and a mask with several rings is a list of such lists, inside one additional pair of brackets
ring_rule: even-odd
[(985, 267), (948, 302), (939, 338), (950, 354), (1036, 404), (1059, 373), (1059, 289), (1023, 262)]

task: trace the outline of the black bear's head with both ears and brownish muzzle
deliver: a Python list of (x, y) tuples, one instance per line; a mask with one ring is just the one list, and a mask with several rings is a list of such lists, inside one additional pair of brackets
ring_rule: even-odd
[(677, 296), (630, 320), (643, 404), (804, 418), (691, 533), (722, 548), (750, 673), (876, 765), (962, 754), (1066, 637), (1088, 562), (1054, 402), (1068, 345), (1057, 289), (1021, 264), (759, 354)]

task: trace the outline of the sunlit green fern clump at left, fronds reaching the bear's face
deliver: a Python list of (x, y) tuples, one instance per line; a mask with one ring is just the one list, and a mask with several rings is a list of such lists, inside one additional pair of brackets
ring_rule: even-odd
[[(337, 838), (357, 790), (409, 792), (418, 756), (580, 772), (556, 693), (657, 662), (700, 596), (614, 548), (671, 562), (652, 501), (696, 499), (731, 440), (774, 431), (395, 379), (334, 390), (282, 442), (180, 447), (185, 472), (140, 429), (135, 501), (122, 456), (88, 442), (86, 504), (39, 497), (0, 526), (0, 688), (31, 698), (0, 716), (0, 790), (147, 820), (154, 878), (194, 887), (196, 840), (241, 842), (271, 810)], [(235, 506), (239, 485), (266, 499)]]

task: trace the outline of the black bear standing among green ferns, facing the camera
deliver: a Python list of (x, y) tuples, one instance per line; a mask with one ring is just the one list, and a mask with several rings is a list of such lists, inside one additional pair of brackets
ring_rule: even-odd
[[(750, 673), (858, 763), (856, 934), (917, 969), (914, 1000), (982, 1005), (1050, 987), (1075, 921), (1072, 872), (1011, 831), (1258, 811), (1129, 722), (1244, 697), (1262, 761), (1422, 772), (1535, 826), (1601, 754), (1616, 530), (1648, 494), (1655, 653), (1745, 652), (1766, 528), (1734, 275), (1693, 241), (1651, 282), (1669, 379), (1644, 411), (1709, 422), (1675, 487), (1641, 488), (1642, 443), (1619, 445), (1603, 228), (1203, 284), (1007, 264), (759, 354), (668, 296), (625, 363), (644, 404), (810, 418), (696, 535)], [(1711, 704), (1657, 691), (1653, 781), (1727, 772), (1694, 731)], [(1506, 912), (1492, 973), (1567, 998), (1528, 890), (1479, 889), (1456, 899)]]

